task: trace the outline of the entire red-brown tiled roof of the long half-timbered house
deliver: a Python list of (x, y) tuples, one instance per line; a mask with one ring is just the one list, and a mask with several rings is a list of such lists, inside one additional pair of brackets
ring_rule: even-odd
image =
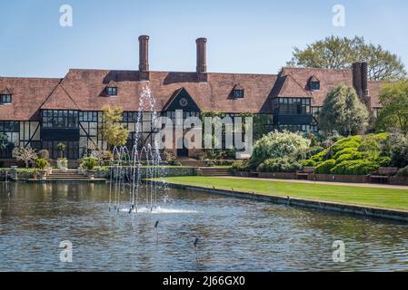
[[(311, 78), (321, 82), (320, 90), (309, 89)], [(124, 111), (138, 111), (145, 86), (156, 99), (157, 111), (164, 110), (174, 92), (182, 88), (202, 111), (271, 112), (274, 97), (312, 98), (313, 106), (322, 106), (334, 86), (353, 86), (353, 73), (285, 67), (279, 75), (207, 73), (207, 80), (199, 82), (196, 73), (150, 72), (150, 82), (140, 82), (137, 71), (81, 69), (70, 70), (62, 80), (0, 77), (0, 92), (13, 94), (12, 104), (0, 105), (0, 121), (38, 120), (40, 108), (101, 111), (104, 105), (118, 105)], [(369, 82), (373, 107), (381, 107), (378, 93), (383, 83)], [(117, 96), (106, 96), (107, 86), (116, 86)], [(231, 97), (236, 86), (244, 88), (243, 99)]]

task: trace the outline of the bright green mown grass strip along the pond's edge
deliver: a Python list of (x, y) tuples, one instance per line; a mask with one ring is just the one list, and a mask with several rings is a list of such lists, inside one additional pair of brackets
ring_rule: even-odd
[(344, 204), (408, 210), (407, 189), (379, 189), (353, 186), (295, 183), (273, 180), (228, 179), (214, 177), (165, 178), (169, 183), (215, 189), (234, 189), (271, 196), (333, 201)]

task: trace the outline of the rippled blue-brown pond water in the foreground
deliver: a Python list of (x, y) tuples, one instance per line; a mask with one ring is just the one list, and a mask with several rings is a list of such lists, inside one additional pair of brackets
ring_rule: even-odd
[(108, 208), (104, 184), (0, 183), (0, 271), (408, 270), (408, 226), (395, 222), (180, 189), (154, 213)]

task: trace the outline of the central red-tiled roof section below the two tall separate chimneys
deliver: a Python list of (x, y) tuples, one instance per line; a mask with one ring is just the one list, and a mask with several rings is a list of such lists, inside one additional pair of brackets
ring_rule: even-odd
[[(150, 82), (139, 82), (138, 72), (71, 70), (62, 84), (83, 111), (98, 111), (105, 105), (120, 105), (124, 111), (139, 110), (139, 95), (149, 86), (156, 99), (156, 110), (162, 111), (175, 91), (184, 88), (202, 111), (267, 111), (266, 102), (274, 87), (276, 75), (208, 73), (208, 82), (198, 82), (196, 73), (150, 72)], [(107, 83), (117, 85), (116, 97), (102, 97)], [(244, 100), (229, 98), (234, 85), (245, 89)], [(147, 108), (145, 108), (147, 109)]]

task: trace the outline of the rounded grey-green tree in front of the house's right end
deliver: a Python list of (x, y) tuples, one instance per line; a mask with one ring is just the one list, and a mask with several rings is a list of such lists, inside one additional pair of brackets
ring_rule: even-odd
[(369, 113), (355, 90), (342, 84), (328, 93), (318, 119), (322, 131), (347, 136), (367, 128)]

